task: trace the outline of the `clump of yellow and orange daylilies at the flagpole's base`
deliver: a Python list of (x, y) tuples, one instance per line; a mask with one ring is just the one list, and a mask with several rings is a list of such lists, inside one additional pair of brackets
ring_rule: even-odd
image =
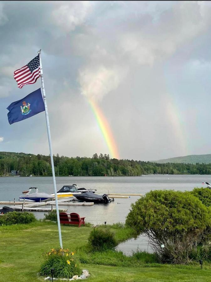
[(55, 278), (70, 279), (74, 275), (81, 275), (79, 260), (69, 249), (51, 249), (50, 252), (44, 253), (44, 263), (40, 267), (40, 274), (51, 276), (50, 269), (54, 268)]

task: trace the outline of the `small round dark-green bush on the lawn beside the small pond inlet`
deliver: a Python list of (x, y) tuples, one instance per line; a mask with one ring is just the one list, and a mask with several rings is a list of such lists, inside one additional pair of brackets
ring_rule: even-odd
[(118, 245), (114, 232), (109, 227), (94, 227), (89, 235), (88, 242), (95, 251), (113, 249)]

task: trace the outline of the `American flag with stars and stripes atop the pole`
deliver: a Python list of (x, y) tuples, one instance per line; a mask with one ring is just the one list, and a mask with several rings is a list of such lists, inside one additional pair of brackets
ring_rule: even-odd
[(40, 57), (36, 56), (27, 65), (14, 71), (14, 79), (18, 82), (18, 87), (22, 88), (26, 84), (33, 84), (40, 77)]

